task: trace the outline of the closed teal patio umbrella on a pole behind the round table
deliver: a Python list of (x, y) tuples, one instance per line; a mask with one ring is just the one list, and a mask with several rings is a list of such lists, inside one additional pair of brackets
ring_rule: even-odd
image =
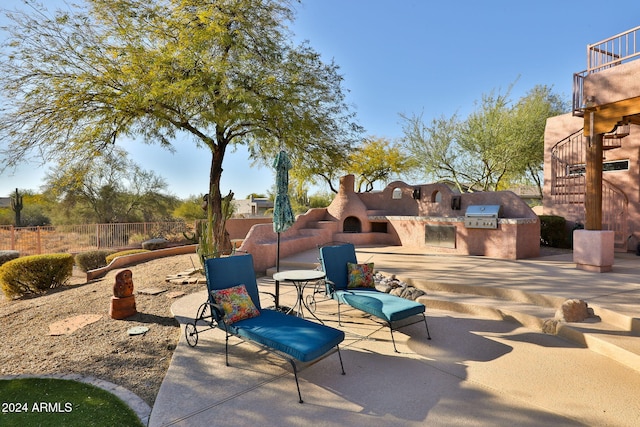
[[(273, 231), (278, 235), (276, 243), (276, 272), (280, 271), (280, 233), (286, 231), (295, 222), (295, 216), (289, 200), (289, 169), (291, 162), (285, 151), (280, 151), (273, 162), (276, 169), (276, 200), (273, 207)], [(276, 310), (280, 304), (280, 282), (276, 280)]]

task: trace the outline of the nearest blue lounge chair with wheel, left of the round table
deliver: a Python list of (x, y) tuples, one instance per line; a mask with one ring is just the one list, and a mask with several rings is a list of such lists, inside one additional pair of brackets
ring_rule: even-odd
[[(338, 346), (344, 340), (344, 332), (303, 318), (262, 308), (253, 270), (253, 257), (250, 254), (207, 259), (205, 275), (209, 298), (198, 308), (194, 321), (185, 326), (185, 337), (189, 345), (193, 347), (198, 343), (197, 325), (205, 323), (209, 329), (217, 327), (226, 332), (227, 366), (229, 366), (230, 336), (250, 341), (279, 355), (293, 368), (300, 403), (303, 403), (303, 400), (298, 383), (297, 362), (310, 365), (337, 351), (344, 375), (342, 356)], [(238, 288), (242, 288), (238, 285), (244, 285), (246, 293), (234, 293), (234, 301), (241, 299), (243, 295), (250, 298), (258, 314), (255, 310), (248, 310), (252, 313), (252, 317), (238, 320), (230, 318), (228, 310), (225, 313), (225, 304), (221, 301), (222, 293), (236, 292)], [(246, 298), (244, 302), (247, 302)], [(231, 314), (233, 316), (234, 313)]]

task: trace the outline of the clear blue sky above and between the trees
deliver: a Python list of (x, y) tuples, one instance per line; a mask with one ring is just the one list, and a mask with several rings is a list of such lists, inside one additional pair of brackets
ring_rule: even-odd
[[(55, 8), (61, 1), (44, 3)], [(20, 5), (3, 0), (0, 7)], [(505, 93), (512, 83), (513, 100), (535, 85), (570, 99), (573, 73), (586, 68), (586, 46), (640, 25), (637, 0), (610, 9), (592, 0), (303, 0), (296, 9), (290, 26), (296, 39), (340, 66), (366, 134), (391, 140), (402, 136), (401, 113), (422, 114), (426, 122), (465, 117), (483, 94)], [(126, 146), (181, 198), (208, 186), (209, 152), (186, 147), (172, 154), (159, 146)], [(2, 173), (0, 196), (16, 187), (37, 191), (45, 170), (27, 164)], [(272, 169), (253, 166), (242, 147), (227, 154), (223, 193), (266, 193), (273, 181)]]

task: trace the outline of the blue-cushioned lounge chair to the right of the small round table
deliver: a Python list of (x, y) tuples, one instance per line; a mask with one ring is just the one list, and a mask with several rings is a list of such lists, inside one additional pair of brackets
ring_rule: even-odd
[[(399, 329), (396, 325), (408, 326), (424, 321), (427, 329), (427, 338), (431, 339), (429, 325), (424, 315), (425, 306), (416, 301), (411, 301), (399, 296), (380, 292), (375, 288), (349, 288), (347, 263), (356, 264), (356, 250), (351, 243), (323, 246), (320, 248), (320, 263), (326, 273), (326, 292), (329, 297), (338, 302), (338, 324), (341, 323), (340, 305), (347, 304), (353, 308), (364, 311), (378, 319), (381, 319), (391, 331), (393, 349), (396, 341), (393, 331)], [(422, 315), (420, 318), (419, 316)], [(410, 321), (416, 317), (417, 320)]]

